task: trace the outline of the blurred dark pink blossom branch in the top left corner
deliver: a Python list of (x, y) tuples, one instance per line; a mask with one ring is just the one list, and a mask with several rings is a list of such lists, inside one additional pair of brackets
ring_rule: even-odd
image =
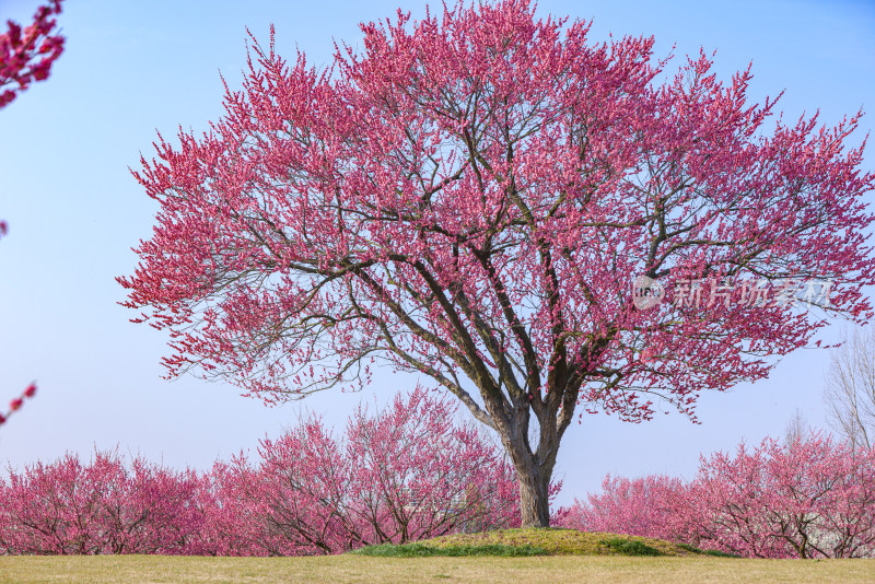
[(61, 0), (51, 0), (36, 10), (33, 24), (24, 30), (7, 21), (8, 31), (0, 35), (0, 90), (12, 83), (18, 86), (0, 93), (0, 107), (9, 105), (32, 82), (48, 78), (51, 63), (63, 52), (63, 36), (50, 34), (56, 25), (51, 16), (60, 12)]

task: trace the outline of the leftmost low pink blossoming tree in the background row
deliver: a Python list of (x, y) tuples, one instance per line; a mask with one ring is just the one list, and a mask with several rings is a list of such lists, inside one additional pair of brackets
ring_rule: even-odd
[(116, 453), (67, 454), (0, 481), (0, 551), (180, 553), (203, 526), (197, 477)]

